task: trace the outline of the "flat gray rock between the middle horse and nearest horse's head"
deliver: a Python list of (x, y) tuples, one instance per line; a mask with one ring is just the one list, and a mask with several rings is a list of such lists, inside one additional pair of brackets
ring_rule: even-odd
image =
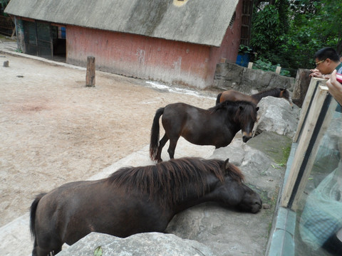
[(277, 196), (291, 149), (291, 139), (274, 132), (263, 132), (247, 143), (234, 139), (228, 146), (215, 149), (212, 159), (229, 159), (242, 170), (245, 181), (264, 193), (264, 201)]

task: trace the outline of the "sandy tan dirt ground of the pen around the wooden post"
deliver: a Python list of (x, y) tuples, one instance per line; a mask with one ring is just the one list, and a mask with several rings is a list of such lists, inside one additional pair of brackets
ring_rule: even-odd
[(85, 180), (149, 144), (157, 108), (208, 108), (217, 95), (166, 92), (100, 72), (95, 87), (85, 87), (84, 69), (0, 55), (0, 226), (27, 213), (37, 193)]

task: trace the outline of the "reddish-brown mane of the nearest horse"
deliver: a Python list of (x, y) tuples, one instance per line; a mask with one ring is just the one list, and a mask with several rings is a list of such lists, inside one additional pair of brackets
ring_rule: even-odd
[(218, 159), (182, 158), (163, 161), (156, 165), (124, 167), (108, 177), (108, 183), (124, 188), (126, 193), (139, 191), (147, 194), (150, 199), (160, 196), (160, 205), (175, 205), (195, 190), (197, 196), (203, 196), (209, 190), (206, 177), (216, 176), (224, 182), (224, 176), (242, 183), (244, 176), (234, 165), (229, 164), (228, 170), (222, 171), (224, 161)]

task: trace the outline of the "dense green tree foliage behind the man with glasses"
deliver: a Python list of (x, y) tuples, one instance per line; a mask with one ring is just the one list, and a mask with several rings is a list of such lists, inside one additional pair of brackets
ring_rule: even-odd
[(258, 58), (288, 68), (313, 68), (313, 55), (331, 46), (342, 52), (342, 1), (254, 2), (251, 46)]

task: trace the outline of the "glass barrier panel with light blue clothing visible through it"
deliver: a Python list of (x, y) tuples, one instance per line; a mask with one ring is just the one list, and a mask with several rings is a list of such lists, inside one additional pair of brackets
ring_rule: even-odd
[(342, 255), (341, 106), (329, 111), (328, 129), (311, 156), (304, 190), (297, 195), (295, 255)]

